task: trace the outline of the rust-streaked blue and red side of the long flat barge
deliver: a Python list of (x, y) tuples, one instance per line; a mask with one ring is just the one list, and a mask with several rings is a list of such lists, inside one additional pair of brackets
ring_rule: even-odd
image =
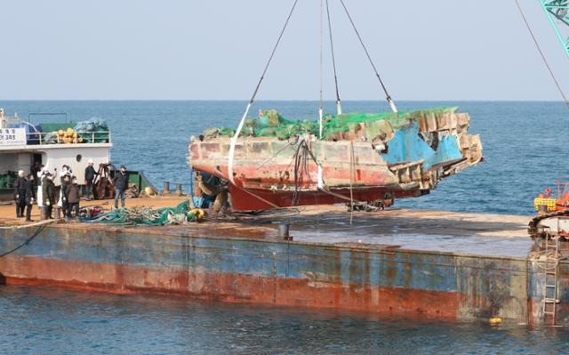
[[(379, 218), (360, 223), (374, 222), (369, 227), (377, 228)], [(1, 257), (0, 274), (7, 284), (180, 294), (232, 303), (458, 320), (500, 317), (533, 324), (543, 319), (544, 279), (540, 265), (528, 257), (286, 242), (276, 238), (272, 226), (244, 222), (194, 226), (53, 225)], [(303, 233), (316, 235), (311, 227), (298, 231), (299, 238)], [(35, 231), (0, 230), (0, 251), (24, 244)], [(561, 262), (559, 267), (557, 323), (567, 325), (569, 264)]]

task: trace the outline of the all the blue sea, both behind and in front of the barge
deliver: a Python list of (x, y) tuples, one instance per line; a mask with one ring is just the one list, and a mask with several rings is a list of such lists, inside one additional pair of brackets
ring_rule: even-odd
[[(245, 101), (0, 101), (8, 115), (66, 112), (71, 121), (107, 120), (112, 161), (161, 187), (188, 189), (188, 140), (204, 128), (234, 127)], [(458, 106), (480, 133), (485, 162), (398, 207), (533, 214), (533, 198), (569, 180), (569, 109), (561, 102), (401, 101), (398, 108)], [(345, 112), (385, 111), (383, 102), (346, 101)], [(260, 101), (290, 119), (317, 116), (315, 101)], [(333, 102), (326, 102), (333, 112)], [(54, 117), (32, 117), (50, 122)], [(63, 120), (63, 117), (60, 118)], [(205, 303), (179, 298), (0, 286), (0, 353), (567, 353), (558, 328), (381, 319), (364, 314)]]

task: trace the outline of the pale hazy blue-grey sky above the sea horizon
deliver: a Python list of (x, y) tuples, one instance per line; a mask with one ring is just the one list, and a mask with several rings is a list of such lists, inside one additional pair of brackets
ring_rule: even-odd
[[(345, 0), (389, 92), (410, 101), (557, 101), (514, 0)], [(521, 0), (569, 92), (539, 0)], [(248, 100), (293, 0), (0, 0), (0, 100)], [(330, 0), (342, 100), (383, 100)], [(258, 100), (317, 100), (320, 0), (299, 0)], [(327, 36), (327, 33), (325, 33)], [(325, 99), (333, 99), (325, 41)]]

